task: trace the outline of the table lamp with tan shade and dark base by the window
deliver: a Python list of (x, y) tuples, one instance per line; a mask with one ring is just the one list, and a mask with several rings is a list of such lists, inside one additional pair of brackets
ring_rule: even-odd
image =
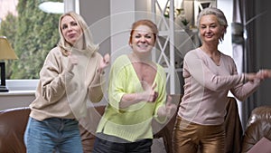
[(14, 53), (14, 49), (11, 47), (10, 43), (7, 41), (5, 36), (0, 36), (0, 68), (1, 68), (1, 86), (0, 92), (6, 92), (8, 89), (5, 86), (5, 61), (18, 59), (17, 55)]

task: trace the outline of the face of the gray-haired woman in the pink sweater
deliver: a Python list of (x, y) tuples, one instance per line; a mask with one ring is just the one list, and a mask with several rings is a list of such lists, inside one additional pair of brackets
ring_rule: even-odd
[(201, 17), (200, 34), (203, 43), (219, 43), (224, 31), (225, 29), (220, 25), (216, 15), (207, 14)]

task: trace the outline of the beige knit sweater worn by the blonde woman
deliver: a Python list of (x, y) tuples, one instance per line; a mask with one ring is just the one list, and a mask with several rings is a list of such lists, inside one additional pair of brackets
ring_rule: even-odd
[(68, 57), (61, 53), (60, 47), (51, 49), (40, 72), (40, 81), (35, 100), (30, 104), (30, 116), (36, 120), (48, 118), (79, 119), (87, 111), (87, 101), (98, 102), (103, 97), (102, 75), (98, 63), (99, 53), (81, 53), (79, 63), (67, 72)]

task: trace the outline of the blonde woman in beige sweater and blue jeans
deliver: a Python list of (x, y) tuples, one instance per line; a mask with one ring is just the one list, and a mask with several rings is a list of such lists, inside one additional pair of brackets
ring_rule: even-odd
[[(24, 134), (28, 153), (76, 152), (82, 153), (79, 135), (79, 121), (74, 112), (83, 110), (79, 101), (70, 94), (78, 94), (78, 99), (87, 97), (92, 102), (102, 99), (101, 77), (109, 63), (98, 53), (88, 25), (74, 12), (62, 14), (59, 21), (60, 43), (51, 49), (40, 72), (36, 99), (30, 104), (31, 113)], [(79, 53), (84, 56), (79, 56)], [(86, 60), (86, 69), (79, 67), (80, 58)], [(82, 72), (85, 77), (79, 78)], [(82, 81), (80, 81), (82, 80)], [(84, 83), (80, 83), (84, 82)], [(73, 90), (76, 89), (76, 90)], [(85, 95), (83, 95), (85, 94)]]

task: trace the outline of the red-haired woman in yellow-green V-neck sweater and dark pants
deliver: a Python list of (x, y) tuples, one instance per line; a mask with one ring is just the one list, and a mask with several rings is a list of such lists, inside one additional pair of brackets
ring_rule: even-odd
[(157, 27), (150, 20), (132, 25), (133, 52), (113, 63), (109, 76), (108, 105), (98, 124), (94, 153), (151, 153), (152, 120), (170, 117), (173, 104), (165, 104), (164, 68), (152, 62)]

